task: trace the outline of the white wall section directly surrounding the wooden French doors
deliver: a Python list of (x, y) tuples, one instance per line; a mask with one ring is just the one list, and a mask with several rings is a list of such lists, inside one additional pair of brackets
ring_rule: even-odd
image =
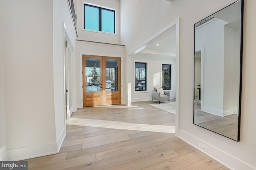
[[(122, 45), (110, 45), (103, 43), (92, 43), (86, 41), (76, 41), (76, 102), (77, 107), (83, 107), (83, 96), (82, 96), (82, 55), (98, 55), (106, 57), (120, 57), (123, 59), (125, 54), (125, 48)], [(125, 70), (123, 65), (125, 63), (121, 62), (121, 96), (123, 95), (124, 90), (124, 81), (125, 81)], [(124, 103), (124, 98), (122, 97), (122, 103)]]

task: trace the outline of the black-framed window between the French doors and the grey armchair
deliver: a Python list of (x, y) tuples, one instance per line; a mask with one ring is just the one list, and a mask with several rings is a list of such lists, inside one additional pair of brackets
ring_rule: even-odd
[(135, 91), (147, 90), (146, 87), (146, 63), (135, 63)]

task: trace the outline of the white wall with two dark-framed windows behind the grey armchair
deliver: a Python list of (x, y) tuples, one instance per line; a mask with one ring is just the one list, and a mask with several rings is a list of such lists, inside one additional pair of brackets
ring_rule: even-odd
[[(146, 91), (135, 91), (135, 62), (147, 63), (147, 90)], [(162, 64), (171, 64), (171, 90), (170, 98), (176, 96), (176, 59), (168, 59), (167, 57), (161, 56), (132, 56), (131, 66), (128, 67), (127, 72), (131, 74), (132, 82), (132, 102), (152, 100), (151, 91), (156, 88), (162, 87)]]

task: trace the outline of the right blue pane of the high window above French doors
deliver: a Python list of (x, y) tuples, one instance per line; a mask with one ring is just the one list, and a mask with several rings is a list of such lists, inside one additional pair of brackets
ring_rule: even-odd
[(114, 31), (114, 23), (115, 21), (115, 13), (110, 10), (101, 10), (101, 31), (108, 33), (115, 33)]

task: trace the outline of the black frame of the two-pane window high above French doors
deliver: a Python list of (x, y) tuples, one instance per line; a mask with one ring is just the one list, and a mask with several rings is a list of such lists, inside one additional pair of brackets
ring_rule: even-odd
[[(114, 33), (116, 33), (116, 11), (115, 10), (110, 10), (110, 9), (107, 9), (107, 8), (102, 8), (102, 7), (98, 7), (98, 6), (93, 6), (93, 5), (89, 5), (89, 4), (84, 4), (84, 29), (85, 28), (85, 6), (90, 6), (92, 8), (98, 8), (99, 10), (99, 18), (98, 18), (98, 21), (99, 21), (99, 30), (100, 32), (103, 32), (103, 33), (110, 33), (110, 32), (105, 32), (105, 31), (102, 31), (102, 19), (101, 19), (101, 10), (107, 10), (107, 11), (111, 11), (111, 12), (114, 12)], [(88, 29), (88, 30), (92, 30), (92, 29)], [(96, 30), (93, 30), (93, 31), (96, 31)]]

